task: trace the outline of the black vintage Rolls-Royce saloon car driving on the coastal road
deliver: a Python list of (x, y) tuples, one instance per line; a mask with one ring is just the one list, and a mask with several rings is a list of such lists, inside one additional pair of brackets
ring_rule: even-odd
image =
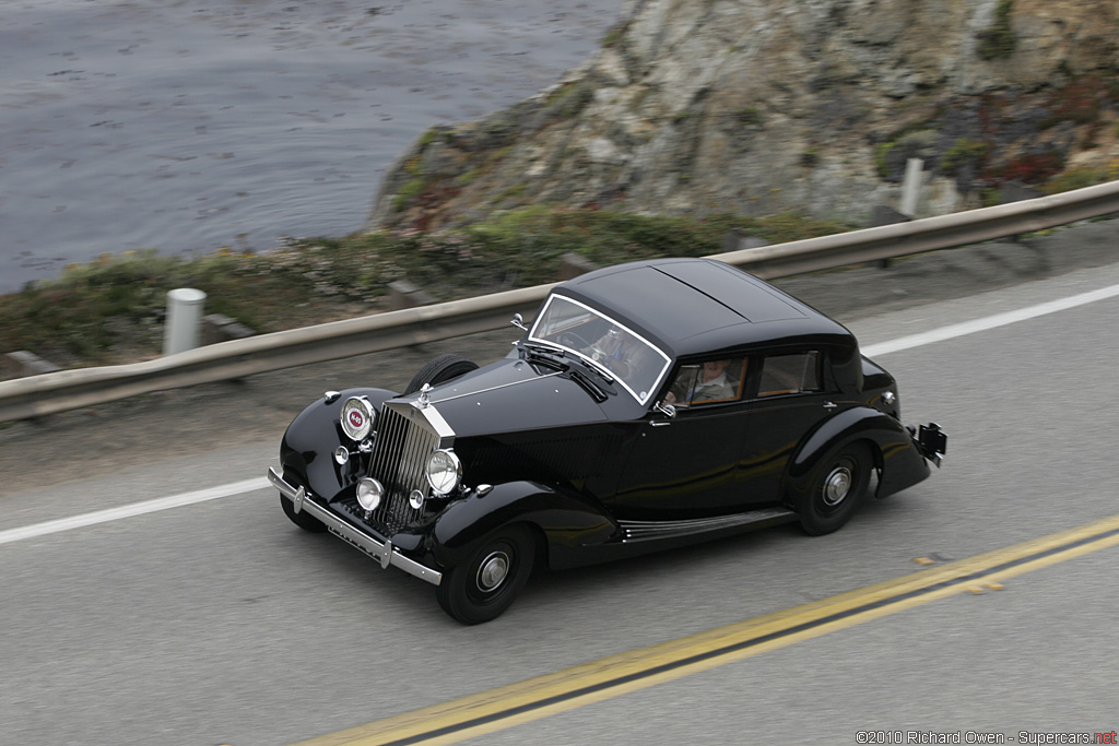
[(843, 526), (947, 436), (905, 427), (844, 327), (707, 259), (557, 285), (502, 360), (445, 355), (403, 394), (328, 391), (269, 470), (298, 526), (436, 586), (474, 624), (534, 564), (572, 567), (799, 520)]

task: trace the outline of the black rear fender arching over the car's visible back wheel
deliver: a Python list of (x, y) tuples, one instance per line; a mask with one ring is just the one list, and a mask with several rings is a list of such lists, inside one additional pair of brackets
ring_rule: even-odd
[(854, 441), (866, 441), (874, 451), (877, 498), (900, 492), (929, 476), (928, 462), (900, 422), (877, 409), (857, 406), (827, 419), (803, 440), (786, 474), (784, 494), (789, 502), (797, 504), (798, 498), (811, 488), (812, 473), (821, 459)]

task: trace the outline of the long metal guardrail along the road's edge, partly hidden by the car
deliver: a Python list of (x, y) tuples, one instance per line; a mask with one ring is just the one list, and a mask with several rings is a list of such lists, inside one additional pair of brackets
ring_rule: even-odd
[[(1051, 197), (711, 258), (772, 280), (978, 244), (1119, 211), (1119, 181)], [(500, 329), (532, 314), (556, 283), (220, 342), (157, 360), (0, 381), (0, 422), (55, 414), (150, 391)]]

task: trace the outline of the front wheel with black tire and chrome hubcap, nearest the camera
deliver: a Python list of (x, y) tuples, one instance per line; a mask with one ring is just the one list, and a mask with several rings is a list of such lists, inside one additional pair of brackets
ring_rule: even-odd
[(524, 526), (491, 533), (470, 559), (443, 574), (435, 597), (462, 624), (481, 624), (501, 615), (525, 587), (536, 547)]

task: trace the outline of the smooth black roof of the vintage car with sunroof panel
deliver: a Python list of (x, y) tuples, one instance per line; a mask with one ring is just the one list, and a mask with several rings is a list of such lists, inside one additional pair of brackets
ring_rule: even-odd
[(581, 275), (553, 292), (598, 308), (674, 357), (774, 342), (856, 346), (838, 322), (713, 259), (632, 262)]

